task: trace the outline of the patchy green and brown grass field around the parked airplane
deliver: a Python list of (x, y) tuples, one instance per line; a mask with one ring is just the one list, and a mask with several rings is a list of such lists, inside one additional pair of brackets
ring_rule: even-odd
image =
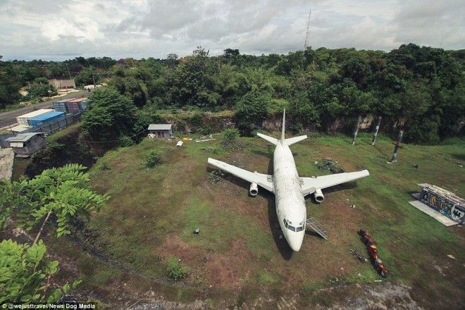
[[(446, 228), (408, 202), (421, 182), (465, 196), (465, 174), (458, 165), (465, 159), (465, 142), (404, 144), (392, 164), (387, 163), (392, 141), (379, 137), (376, 147), (370, 142), (371, 136), (363, 133), (356, 146), (343, 135), (314, 135), (291, 147), (301, 176), (329, 174), (314, 164), (327, 157), (345, 171), (367, 168), (371, 173), (323, 191), (322, 204), (306, 199), (309, 217), (323, 225), (329, 240), (309, 233), (300, 252), (292, 253), (279, 238), (272, 194), (261, 190), (257, 197), (249, 197), (249, 184), (230, 175), (212, 181), (208, 157), (271, 173), (273, 147), (259, 138), (240, 138), (228, 149), (218, 140), (186, 142), (178, 148), (175, 142), (144, 140), (109, 151), (97, 161), (90, 171), (92, 186), (108, 192), (111, 199), (78, 236), (151, 280), (137, 280), (134, 273), (83, 255), (64, 238), (49, 237), (53, 241), (49, 243), (75, 261), (82, 287), (109, 298), (109, 287), (124, 282), (132, 292), (156, 290), (176, 301), (208, 299), (213, 307), (220, 302), (252, 302), (263, 291), (273, 296), (292, 292), (302, 306), (328, 305), (330, 299), (318, 289), (381, 279), (371, 264), (357, 261), (349, 252), (356, 249), (367, 256), (357, 235), (366, 228), (378, 243), (390, 280), (410, 285), (412, 297), (426, 307), (459, 308), (464, 303), (463, 297), (457, 299), (464, 294), (464, 233), (461, 228)], [(165, 154), (155, 168), (145, 165), (151, 149)], [(192, 233), (196, 228), (199, 235)], [(163, 285), (170, 257), (181, 259), (189, 269), (184, 285)], [(337, 290), (332, 294), (337, 297)]]

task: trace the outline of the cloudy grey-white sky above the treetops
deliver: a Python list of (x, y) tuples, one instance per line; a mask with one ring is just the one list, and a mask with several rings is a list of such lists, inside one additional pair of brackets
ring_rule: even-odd
[(465, 48), (465, 1), (0, 0), (0, 55), (63, 60), (243, 54), (309, 45), (388, 51), (414, 42)]

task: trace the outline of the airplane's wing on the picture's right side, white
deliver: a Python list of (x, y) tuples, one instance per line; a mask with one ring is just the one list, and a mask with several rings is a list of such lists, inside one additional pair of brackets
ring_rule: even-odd
[(368, 170), (349, 172), (349, 173), (336, 173), (333, 175), (323, 175), (317, 178), (300, 178), (303, 181), (302, 194), (304, 196), (312, 194), (316, 189), (323, 189), (334, 185), (339, 185), (345, 182), (350, 182), (359, 178), (364, 178), (370, 175)]

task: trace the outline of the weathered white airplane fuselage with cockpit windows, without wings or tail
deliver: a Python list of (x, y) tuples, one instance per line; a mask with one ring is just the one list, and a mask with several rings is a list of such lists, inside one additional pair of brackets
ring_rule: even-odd
[(276, 144), (273, 171), (278, 221), (287, 243), (297, 252), (304, 240), (306, 207), (294, 156), (287, 144)]

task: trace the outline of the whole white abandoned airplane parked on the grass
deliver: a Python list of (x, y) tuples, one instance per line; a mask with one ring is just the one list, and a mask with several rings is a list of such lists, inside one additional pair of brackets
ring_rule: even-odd
[(327, 239), (323, 230), (316, 223), (307, 220), (304, 197), (308, 194), (314, 194), (316, 202), (323, 202), (324, 196), (321, 190), (326, 187), (364, 178), (370, 174), (367, 170), (364, 170), (323, 175), (317, 178), (299, 178), (294, 156), (292, 156), (289, 146), (306, 139), (306, 135), (285, 139), (285, 115), (286, 111), (283, 112), (283, 130), (280, 140), (261, 133), (257, 134), (276, 146), (273, 155), (274, 175), (265, 175), (256, 171), (250, 172), (211, 158), (209, 158), (208, 162), (223, 171), (250, 182), (249, 192), (252, 196), (259, 193), (259, 186), (275, 194), (276, 214), (281, 230), (283, 230), (283, 235), (291, 249), (297, 252), (302, 247), (306, 226), (310, 226), (316, 233)]

